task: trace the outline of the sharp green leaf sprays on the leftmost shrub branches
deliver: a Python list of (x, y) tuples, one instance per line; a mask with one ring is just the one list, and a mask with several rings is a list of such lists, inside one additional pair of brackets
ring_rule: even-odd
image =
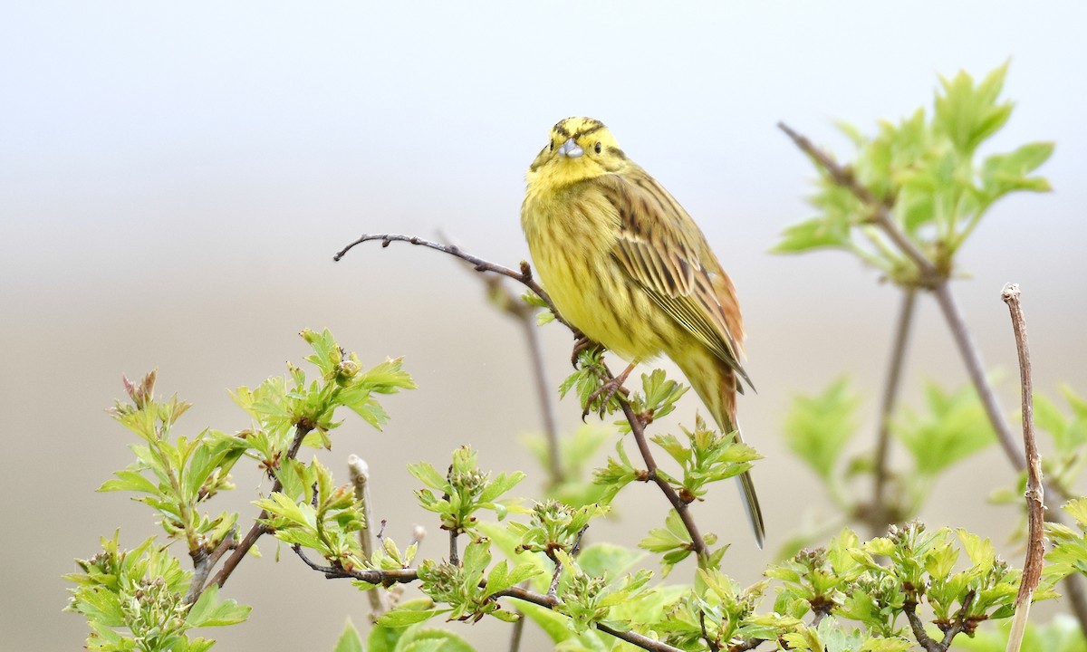
[[(240, 387), (236, 402), (253, 417), (253, 427), (235, 435), (205, 429), (196, 436), (175, 435), (189, 404), (154, 393), (155, 372), (139, 383), (125, 379), (129, 401), (117, 402), (114, 418), (135, 432), (136, 461), (101, 491), (132, 491), (152, 507), (166, 538), (185, 543), (195, 570), (182, 569), (168, 547), (153, 539), (130, 551), (120, 548), (120, 535), (102, 539), (102, 551), (77, 560), (71, 611), (84, 614), (93, 650), (207, 650), (214, 641), (190, 639), (196, 627), (245, 620), (249, 609), (218, 599), (218, 586), (204, 586), (213, 565), (237, 544), (238, 514), (212, 515), (208, 503), (230, 490), (230, 471), (240, 460), (254, 460), (275, 478), (272, 493), (254, 501), (266, 510), (263, 525), (289, 543), (318, 551), (334, 565), (362, 565), (355, 532), (364, 527), (350, 487), (336, 487), (316, 460), (304, 464), (295, 455), (302, 439), (330, 446), (329, 431), (338, 408), (346, 406), (375, 427), (388, 415), (373, 398), (414, 387), (399, 360), (362, 371), (358, 356), (336, 344), (327, 330), (304, 330), (313, 353), (307, 360), (318, 377), (288, 364), (288, 375), (273, 377), (255, 389)], [(255, 552), (255, 548), (251, 549)], [(376, 556), (376, 555), (375, 555)], [(368, 562), (365, 562), (368, 563)]]

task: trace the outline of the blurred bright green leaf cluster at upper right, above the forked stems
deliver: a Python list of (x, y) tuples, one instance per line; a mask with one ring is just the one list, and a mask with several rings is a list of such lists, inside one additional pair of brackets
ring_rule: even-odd
[(820, 214), (788, 227), (774, 251), (844, 250), (898, 285), (930, 286), (937, 279), (924, 278), (875, 228), (873, 205), (879, 204), (940, 278), (950, 276), (955, 253), (997, 200), (1050, 189), (1032, 173), (1052, 154), (1052, 142), (978, 159), (985, 141), (1011, 117), (1012, 103), (1000, 99), (1007, 72), (1005, 63), (976, 83), (965, 72), (941, 77), (930, 115), (917, 109), (898, 123), (882, 122), (875, 136), (839, 124), (857, 150), (848, 174), (872, 197), (862, 199), (824, 174), (809, 198)]

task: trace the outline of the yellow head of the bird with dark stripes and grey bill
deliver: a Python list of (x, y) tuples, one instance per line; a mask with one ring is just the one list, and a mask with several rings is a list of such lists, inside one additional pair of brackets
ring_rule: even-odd
[(547, 146), (528, 168), (528, 181), (564, 186), (622, 172), (626, 154), (599, 120), (567, 117), (551, 128)]

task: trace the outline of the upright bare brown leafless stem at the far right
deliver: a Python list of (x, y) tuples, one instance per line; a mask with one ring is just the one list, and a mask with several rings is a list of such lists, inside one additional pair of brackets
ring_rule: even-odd
[(1045, 499), (1046, 488), (1041, 484), (1041, 459), (1034, 436), (1034, 388), (1030, 379), (1030, 350), (1026, 339), (1026, 319), (1020, 301), (1020, 288), (1008, 284), (1000, 298), (1008, 304), (1015, 331), (1015, 349), (1019, 352), (1020, 387), (1023, 393), (1023, 448), (1026, 451), (1026, 506), (1027, 506), (1027, 551), (1023, 563), (1023, 577), (1015, 595), (1015, 616), (1012, 618), (1008, 637), (1008, 652), (1019, 652), (1023, 644), (1030, 613), (1030, 599), (1041, 580), (1041, 566), (1046, 554)]

